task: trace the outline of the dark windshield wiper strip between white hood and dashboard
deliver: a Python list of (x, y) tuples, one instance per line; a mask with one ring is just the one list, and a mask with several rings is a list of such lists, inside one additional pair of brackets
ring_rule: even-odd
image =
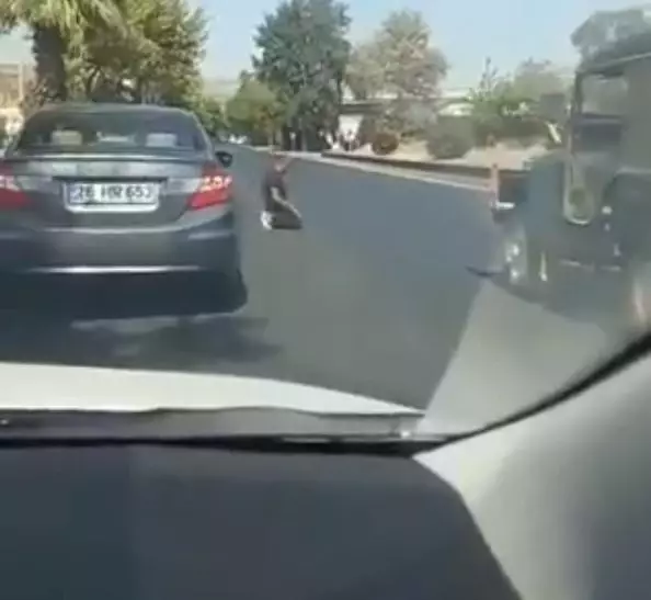
[(278, 407), (134, 412), (4, 410), (0, 411), (0, 448), (165, 443), (392, 454), (400, 448), (410, 454), (445, 440), (427, 431), (416, 433), (420, 420), (420, 414), (407, 410), (321, 414)]

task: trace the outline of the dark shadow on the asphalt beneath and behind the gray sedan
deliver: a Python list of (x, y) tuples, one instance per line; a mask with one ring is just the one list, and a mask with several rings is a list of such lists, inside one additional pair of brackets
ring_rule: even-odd
[(218, 372), (274, 354), (233, 302), (180, 282), (24, 287), (0, 302), (0, 361)]

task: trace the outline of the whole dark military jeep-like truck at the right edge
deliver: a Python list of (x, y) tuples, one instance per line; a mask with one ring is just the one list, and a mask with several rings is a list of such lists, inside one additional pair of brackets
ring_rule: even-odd
[(501, 278), (545, 297), (576, 269), (618, 273), (628, 308), (649, 322), (641, 273), (651, 273), (651, 33), (584, 60), (567, 114), (557, 104), (557, 114), (542, 116), (557, 132), (556, 147), (528, 168), (498, 174)]

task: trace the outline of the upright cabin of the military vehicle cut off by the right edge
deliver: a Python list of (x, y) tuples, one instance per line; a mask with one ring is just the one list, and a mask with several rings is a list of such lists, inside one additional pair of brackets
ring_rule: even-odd
[(568, 134), (594, 203), (590, 213), (610, 215), (625, 253), (649, 246), (641, 241), (651, 219), (651, 33), (615, 43), (581, 65)]

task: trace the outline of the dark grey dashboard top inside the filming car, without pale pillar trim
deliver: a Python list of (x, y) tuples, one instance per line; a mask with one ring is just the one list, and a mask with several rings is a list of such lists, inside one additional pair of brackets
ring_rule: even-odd
[(408, 459), (0, 450), (12, 600), (511, 599), (461, 498)]

